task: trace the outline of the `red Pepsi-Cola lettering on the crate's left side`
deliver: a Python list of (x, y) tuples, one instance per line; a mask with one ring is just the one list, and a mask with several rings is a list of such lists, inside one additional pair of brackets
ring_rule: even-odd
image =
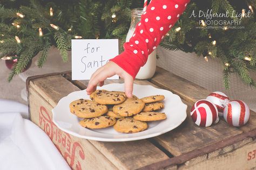
[[(85, 155), (82, 146), (78, 141), (72, 141), (69, 133), (65, 133), (51, 121), (48, 111), (44, 107), (39, 110), (39, 125), (41, 129), (51, 138), (59, 152), (63, 155), (72, 169), (82, 169), (79, 160), (84, 160)], [(64, 148), (60, 150), (60, 148)], [(79, 160), (75, 160), (76, 153), (79, 154)]]

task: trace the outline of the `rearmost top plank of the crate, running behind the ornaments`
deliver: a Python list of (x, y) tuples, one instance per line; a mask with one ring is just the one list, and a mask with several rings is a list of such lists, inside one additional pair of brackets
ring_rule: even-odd
[[(212, 92), (159, 67), (150, 81), (161, 88), (172, 91), (172, 93), (179, 95), (183, 100), (191, 104), (206, 98)], [(239, 129), (248, 132), (255, 128), (256, 113), (251, 110), (250, 121)]]

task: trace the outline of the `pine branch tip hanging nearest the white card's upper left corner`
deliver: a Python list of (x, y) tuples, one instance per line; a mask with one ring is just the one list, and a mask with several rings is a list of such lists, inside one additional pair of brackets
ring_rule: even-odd
[(63, 62), (66, 62), (69, 60), (68, 56), (68, 42), (66, 41), (66, 33), (57, 31), (54, 34), (54, 39), (57, 44), (57, 48), (60, 51), (60, 55), (62, 56)]

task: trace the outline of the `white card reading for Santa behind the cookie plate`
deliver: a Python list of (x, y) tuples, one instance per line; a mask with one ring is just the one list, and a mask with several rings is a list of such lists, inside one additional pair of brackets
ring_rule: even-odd
[[(72, 39), (72, 80), (90, 80), (91, 75), (117, 56), (118, 39)], [(109, 79), (118, 79), (117, 75)]]

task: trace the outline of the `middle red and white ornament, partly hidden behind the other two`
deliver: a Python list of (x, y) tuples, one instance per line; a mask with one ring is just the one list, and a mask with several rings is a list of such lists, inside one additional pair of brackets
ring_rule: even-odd
[(227, 103), (230, 101), (230, 98), (227, 97), (224, 93), (220, 91), (214, 91), (206, 97), (206, 100), (215, 104), (218, 109), (219, 116), (223, 116), (223, 111)]

